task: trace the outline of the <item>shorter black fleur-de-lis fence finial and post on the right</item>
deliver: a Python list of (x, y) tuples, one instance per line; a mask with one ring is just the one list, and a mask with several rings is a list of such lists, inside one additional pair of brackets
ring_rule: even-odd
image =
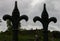
[(43, 36), (44, 36), (44, 39), (43, 41), (48, 41), (48, 25), (51, 21), (53, 21), (54, 23), (57, 22), (57, 19), (55, 17), (51, 17), (49, 18), (48, 16), (48, 13), (46, 11), (46, 4), (44, 4), (44, 10), (42, 12), (42, 15), (41, 15), (41, 18), (36, 16), (34, 19), (33, 19), (34, 22), (36, 21), (40, 21), (43, 25)]

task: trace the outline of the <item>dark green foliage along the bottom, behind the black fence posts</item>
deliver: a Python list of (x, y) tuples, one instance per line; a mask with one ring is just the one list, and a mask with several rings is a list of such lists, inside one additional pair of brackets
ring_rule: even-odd
[[(43, 30), (37, 30), (39, 40), (43, 41)], [(54, 31), (55, 33), (56, 31)], [(19, 31), (19, 41), (34, 41), (36, 30)], [(60, 32), (59, 32), (60, 34)], [(54, 34), (57, 36), (57, 32)], [(48, 31), (49, 41), (60, 41), (60, 37), (54, 37), (53, 32)], [(12, 31), (0, 32), (0, 41), (12, 41)]]

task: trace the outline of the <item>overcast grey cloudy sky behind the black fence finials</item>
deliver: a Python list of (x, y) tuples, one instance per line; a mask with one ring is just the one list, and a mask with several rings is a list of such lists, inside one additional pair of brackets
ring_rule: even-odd
[(28, 22), (25, 20), (21, 22), (22, 29), (43, 29), (41, 22), (33, 22), (35, 16), (41, 17), (43, 11), (43, 5), (46, 3), (46, 9), (49, 17), (56, 17), (57, 23), (51, 22), (48, 26), (50, 31), (60, 31), (60, 0), (0, 0), (0, 31), (7, 30), (6, 21), (2, 19), (5, 14), (12, 15), (15, 1), (18, 2), (18, 9), (21, 15), (27, 15), (29, 17)]

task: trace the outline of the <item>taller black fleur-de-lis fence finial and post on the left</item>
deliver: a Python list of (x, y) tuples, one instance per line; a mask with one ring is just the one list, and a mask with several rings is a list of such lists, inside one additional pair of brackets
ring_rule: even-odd
[[(13, 28), (13, 40), (12, 41), (18, 41), (18, 31), (19, 31), (19, 24), (22, 19), (25, 19), (26, 21), (28, 21), (28, 17), (26, 15), (22, 15), (20, 16), (18, 7), (17, 7), (17, 1), (15, 1), (15, 7), (14, 10), (12, 12), (12, 16), (10, 15), (4, 15), (3, 16), (4, 20), (9, 19), (12, 22), (12, 28)], [(20, 25), (21, 27), (21, 25)]]

